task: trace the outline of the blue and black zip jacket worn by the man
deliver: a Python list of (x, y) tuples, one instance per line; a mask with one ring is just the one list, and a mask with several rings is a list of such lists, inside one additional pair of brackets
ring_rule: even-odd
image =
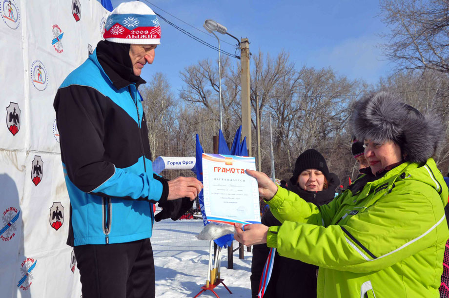
[(129, 44), (100, 41), (61, 84), (54, 101), (70, 197), (67, 244), (149, 238), (152, 204), (168, 184), (152, 169), (148, 131)]

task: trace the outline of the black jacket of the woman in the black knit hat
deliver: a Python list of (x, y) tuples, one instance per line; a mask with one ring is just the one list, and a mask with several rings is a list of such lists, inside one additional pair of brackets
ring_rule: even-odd
[[(298, 194), (307, 202), (324, 205), (334, 199), (335, 189), (340, 185), (340, 179), (335, 174), (329, 173), (329, 176), (329, 185), (324, 191), (310, 192), (303, 190), (292, 179), (289, 181), (287, 190)], [(263, 216), (262, 223), (266, 226), (281, 225), (281, 222), (273, 216), (270, 210)], [(260, 278), (269, 250), (266, 244), (254, 245), (251, 264), (251, 295), (253, 298), (257, 298), (259, 293)], [(264, 298), (290, 298), (299, 294), (301, 294), (301, 297), (316, 297), (317, 269), (318, 267), (315, 265), (284, 258), (276, 252), (273, 271)]]

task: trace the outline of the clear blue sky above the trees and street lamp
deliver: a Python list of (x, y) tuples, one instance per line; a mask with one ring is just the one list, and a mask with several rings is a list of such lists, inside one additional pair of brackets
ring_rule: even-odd
[[(122, 0), (111, 0), (117, 7)], [(302, 65), (332, 67), (350, 79), (365, 79), (375, 83), (388, 76), (394, 66), (382, 55), (378, 36), (387, 32), (378, 17), (378, 1), (360, 0), (150, 0), (144, 1), (155, 12), (201, 39), (217, 45), (212, 35), (202, 33), (166, 12), (201, 29), (204, 20), (213, 19), (225, 25), (238, 39), (250, 42), (250, 51), (276, 56), (282, 49), (299, 69)], [(158, 6), (158, 7), (156, 7)], [(164, 11), (162, 11), (163, 9)], [(173, 91), (181, 89), (179, 72), (203, 59), (217, 60), (218, 52), (187, 37), (160, 20), (162, 38), (152, 65), (145, 65), (142, 77), (149, 80), (155, 72), (163, 72)], [(236, 40), (219, 36), (222, 49), (234, 53)]]

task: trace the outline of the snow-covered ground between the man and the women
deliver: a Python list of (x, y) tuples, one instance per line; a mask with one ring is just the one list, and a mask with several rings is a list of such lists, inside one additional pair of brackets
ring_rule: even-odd
[[(209, 242), (195, 238), (202, 229), (201, 219), (165, 219), (153, 228), (151, 244), (154, 251), (156, 271), (156, 297), (194, 297), (201, 290), (207, 278)], [(234, 249), (239, 243), (234, 241)], [(229, 294), (222, 285), (216, 287), (220, 298), (251, 297), (249, 276), (251, 274), (252, 253), (246, 251), (245, 259), (234, 253), (234, 269), (227, 269), (227, 249), (223, 250), (221, 278), (231, 290)], [(214, 297), (206, 291), (200, 298)]]

